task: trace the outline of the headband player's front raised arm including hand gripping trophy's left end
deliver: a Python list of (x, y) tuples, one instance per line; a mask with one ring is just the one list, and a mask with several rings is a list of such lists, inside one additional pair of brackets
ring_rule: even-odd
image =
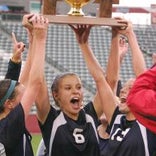
[[(33, 26), (33, 41), (31, 47), (31, 52), (33, 53), (28, 56), (30, 57), (30, 64), (28, 64), (30, 65), (30, 71), (27, 73), (28, 82), (21, 101), (26, 116), (29, 114), (32, 104), (35, 102), (43, 81), (48, 19), (41, 15), (36, 15), (34, 18), (30, 18), (29, 22), (31, 22)], [(22, 72), (25, 72), (25, 70)]]

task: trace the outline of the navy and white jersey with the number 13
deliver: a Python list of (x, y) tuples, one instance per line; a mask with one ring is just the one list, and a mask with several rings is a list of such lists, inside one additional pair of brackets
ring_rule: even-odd
[(119, 114), (118, 107), (111, 121), (110, 139), (102, 156), (153, 156), (156, 151), (156, 135), (138, 121), (128, 121)]

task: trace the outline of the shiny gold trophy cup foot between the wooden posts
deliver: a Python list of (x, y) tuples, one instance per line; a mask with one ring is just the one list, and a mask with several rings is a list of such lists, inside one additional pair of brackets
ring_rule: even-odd
[(84, 16), (82, 7), (89, 3), (91, 0), (65, 0), (70, 6), (71, 9), (68, 12), (68, 15), (72, 16)]

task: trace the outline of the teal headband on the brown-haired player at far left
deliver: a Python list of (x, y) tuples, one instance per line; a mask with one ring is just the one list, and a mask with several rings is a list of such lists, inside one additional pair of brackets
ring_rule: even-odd
[(10, 95), (13, 93), (17, 81), (11, 80), (10, 86), (5, 94), (5, 96), (0, 100), (0, 106), (4, 104), (4, 102), (10, 97)]

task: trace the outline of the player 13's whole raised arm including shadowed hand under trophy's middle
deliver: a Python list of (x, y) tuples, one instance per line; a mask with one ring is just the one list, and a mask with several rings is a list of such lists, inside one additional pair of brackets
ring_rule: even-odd
[[(80, 49), (82, 51), (88, 70), (91, 73), (96, 83), (96, 88), (97, 88), (97, 92), (98, 92), (98, 96), (100, 100), (98, 104), (100, 105), (102, 104), (101, 111), (104, 110), (104, 113), (108, 119), (108, 122), (110, 122), (112, 114), (116, 107), (115, 106), (116, 99), (110, 86), (108, 85), (105, 79), (105, 73), (102, 67), (100, 66), (99, 62), (97, 61), (96, 57), (94, 56), (92, 52), (92, 49), (89, 46), (88, 37), (89, 37), (91, 26), (77, 25), (77, 26), (71, 26), (71, 27), (76, 34), (76, 38), (80, 46)], [(94, 106), (94, 107), (95, 107), (95, 110), (99, 108), (99, 106), (97, 107)]]

